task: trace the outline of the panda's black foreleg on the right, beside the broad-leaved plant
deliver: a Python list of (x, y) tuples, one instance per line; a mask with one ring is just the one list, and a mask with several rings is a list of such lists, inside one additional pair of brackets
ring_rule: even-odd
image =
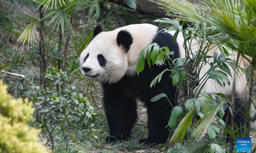
[(155, 146), (167, 142), (170, 131), (168, 131), (168, 120), (172, 107), (167, 99), (160, 99), (156, 102), (148, 102), (148, 139), (140, 140), (148, 146)]

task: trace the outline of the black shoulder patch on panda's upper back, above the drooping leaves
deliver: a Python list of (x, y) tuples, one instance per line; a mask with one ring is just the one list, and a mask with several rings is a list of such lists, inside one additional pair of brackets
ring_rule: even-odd
[(174, 58), (179, 58), (179, 46), (177, 42), (173, 42), (173, 36), (170, 33), (163, 33), (164, 31), (160, 27), (158, 27), (157, 32), (152, 43), (157, 43), (160, 47), (168, 47), (170, 51), (174, 52)]

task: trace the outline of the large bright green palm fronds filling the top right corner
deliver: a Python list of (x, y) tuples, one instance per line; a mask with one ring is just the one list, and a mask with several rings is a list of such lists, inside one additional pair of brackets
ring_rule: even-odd
[[(170, 15), (192, 23), (209, 24), (217, 27), (215, 39), (222, 40), (228, 47), (236, 49), (243, 57), (255, 56), (256, 6), (254, 0), (208, 0), (192, 5), (187, 0), (159, 0)], [(199, 7), (200, 6), (200, 7)], [(211, 27), (208, 27), (211, 28)]]

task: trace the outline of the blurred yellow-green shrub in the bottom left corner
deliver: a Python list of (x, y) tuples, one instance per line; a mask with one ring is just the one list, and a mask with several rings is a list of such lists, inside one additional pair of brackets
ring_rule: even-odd
[(27, 123), (32, 120), (34, 108), (24, 101), (7, 94), (7, 86), (0, 80), (0, 153), (46, 153), (39, 142), (38, 130)]

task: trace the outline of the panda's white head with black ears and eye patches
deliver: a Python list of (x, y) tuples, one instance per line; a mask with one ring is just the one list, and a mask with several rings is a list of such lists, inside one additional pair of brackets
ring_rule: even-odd
[(101, 25), (97, 25), (93, 37), (80, 55), (82, 74), (89, 80), (116, 83), (127, 71), (132, 35), (127, 30), (118, 29), (103, 32)]

